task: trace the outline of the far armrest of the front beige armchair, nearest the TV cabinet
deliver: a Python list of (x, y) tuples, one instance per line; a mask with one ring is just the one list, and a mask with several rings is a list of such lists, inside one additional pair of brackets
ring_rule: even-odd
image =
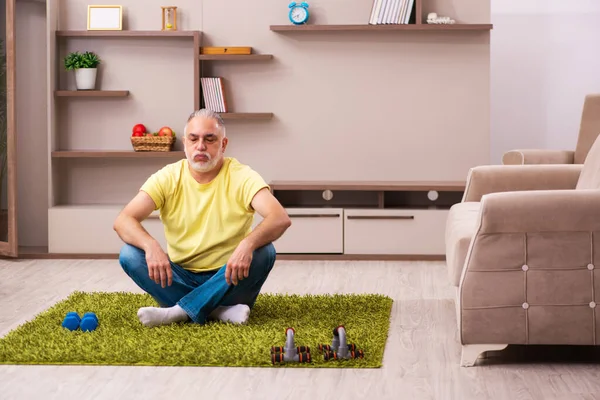
[(526, 190), (575, 189), (583, 165), (482, 165), (471, 168), (463, 201), (483, 195)]

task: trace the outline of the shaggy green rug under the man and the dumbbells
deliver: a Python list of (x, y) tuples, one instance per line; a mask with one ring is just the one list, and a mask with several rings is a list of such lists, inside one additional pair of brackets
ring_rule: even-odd
[[(211, 321), (147, 328), (137, 310), (156, 306), (147, 294), (74, 292), (0, 339), (2, 364), (89, 364), (238, 367), (381, 367), (392, 299), (379, 294), (260, 294), (245, 325)], [(95, 312), (95, 331), (61, 326), (67, 312)], [(331, 344), (343, 325), (362, 359), (325, 361), (319, 344)], [(285, 346), (285, 330), (296, 346), (309, 346), (311, 363), (273, 365), (271, 347)]]

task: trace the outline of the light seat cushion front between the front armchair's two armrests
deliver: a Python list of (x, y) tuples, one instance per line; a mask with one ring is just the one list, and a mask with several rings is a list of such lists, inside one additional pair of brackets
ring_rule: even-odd
[(479, 217), (479, 202), (454, 204), (446, 223), (446, 264), (450, 282), (459, 286), (471, 238), (475, 234)]

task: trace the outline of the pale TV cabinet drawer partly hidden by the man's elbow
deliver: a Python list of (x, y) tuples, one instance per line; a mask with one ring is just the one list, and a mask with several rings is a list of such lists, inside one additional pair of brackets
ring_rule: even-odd
[[(292, 226), (273, 242), (277, 253), (343, 253), (344, 231), (341, 208), (288, 208)], [(258, 225), (262, 218), (255, 214)]]

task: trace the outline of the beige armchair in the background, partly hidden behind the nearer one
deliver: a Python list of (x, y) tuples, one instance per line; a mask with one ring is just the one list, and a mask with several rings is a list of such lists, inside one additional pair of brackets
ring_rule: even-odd
[(502, 155), (502, 164), (583, 164), (598, 134), (600, 134), (600, 94), (588, 94), (583, 101), (575, 150), (514, 149)]

